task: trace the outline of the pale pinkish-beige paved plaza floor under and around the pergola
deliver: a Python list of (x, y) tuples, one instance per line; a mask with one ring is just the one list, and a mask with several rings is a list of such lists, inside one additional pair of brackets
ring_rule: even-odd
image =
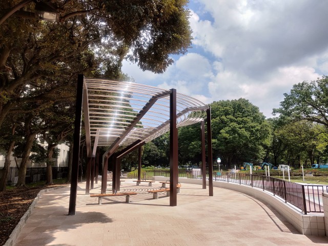
[[(159, 189), (159, 182), (136, 186), (127, 179), (120, 192), (137, 192), (131, 203), (117, 196), (101, 205), (85, 195), (85, 182), (78, 183), (74, 216), (67, 215), (69, 188), (43, 193), (15, 245), (328, 245), (327, 237), (299, 234), (253, 197), (217, 187), (210, 197), (199, 185), (181, 185), (178, 206), (170, 207), (166, 193), (153, 199), (147, 192)], [(100, 193), (100, 182), (90, 193)]]

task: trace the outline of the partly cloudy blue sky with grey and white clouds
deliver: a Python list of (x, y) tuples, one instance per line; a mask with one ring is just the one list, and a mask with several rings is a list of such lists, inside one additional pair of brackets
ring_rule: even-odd
[(248, 99), (267, 118), (293, 85), (328, 75), (327, 0), (190, 0), (192, 48), (165, 73), (124, 61), (136, 83), (203, 103)]

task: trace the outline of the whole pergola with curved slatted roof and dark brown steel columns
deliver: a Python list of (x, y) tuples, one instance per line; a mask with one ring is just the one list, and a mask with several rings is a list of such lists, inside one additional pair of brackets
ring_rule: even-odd
[[(78, 76), (74, 148), (69, 214), (75, 214), (82, 109), (87, 147), (86, 194), (97, 182), (97, 150), (108, 148), (103, 155), (101, 193), (106, 193), (108, 160), (113, 160), (112, 189), (119, 190), (120, 159), (138, 149), (138, 180), (140, 180), (141, 146), (170, 132), (170, 187), (178, 183), (177, 128), (200, 122), (202, 142), (203, 189), (206, 189), (206, 156), (204, 119), (208, 128), (209, 195), (213, 196), (213, 164), (211, 110), (208, 105), (175, 89), (163, 90), (127, 81), (114, 81)], [(96, 162), (96, 163), (95, 163)], [(96, 168), (95, 168), (96, 167)], [(170, 206), (177, 205), (177, 190), (170, 189)]]

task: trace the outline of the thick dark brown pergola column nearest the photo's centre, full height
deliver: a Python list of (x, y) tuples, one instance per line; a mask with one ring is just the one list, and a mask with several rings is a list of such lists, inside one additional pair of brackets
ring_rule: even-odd
[(177, 206), (178, 129), (176, 128), (176, 89), (170, 94), (170, 206)]

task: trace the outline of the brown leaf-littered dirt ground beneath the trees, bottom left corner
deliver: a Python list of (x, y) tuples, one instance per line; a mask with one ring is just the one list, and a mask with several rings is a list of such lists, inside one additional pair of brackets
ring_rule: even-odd
[(0, 245), (4, 245), (20, 218), (30, 207), (37, 193), (63, 185), (41, 186), (33, 188), (14, 188), (0, 192)]

